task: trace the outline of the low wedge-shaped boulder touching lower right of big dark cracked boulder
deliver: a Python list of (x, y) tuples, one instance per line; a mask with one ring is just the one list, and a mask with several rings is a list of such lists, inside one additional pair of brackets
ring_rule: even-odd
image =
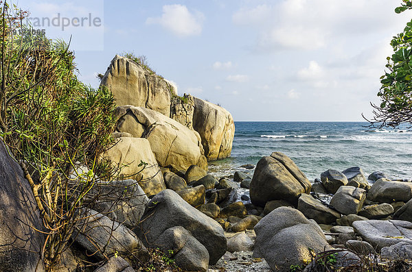
[(318, 224), (334, 223), (336, 219), (341, 218), (341, 214), (336, 212), (311, 195), (302, 194), (297, 202), (297, 209), (300, 210), (309, 219), (314, 219)]

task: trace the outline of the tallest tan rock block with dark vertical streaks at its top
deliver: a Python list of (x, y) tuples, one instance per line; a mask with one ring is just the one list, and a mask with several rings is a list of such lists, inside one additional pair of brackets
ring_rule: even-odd
[(170, 116), (174, 86), (158, 75), (151, 75), (139, 64), (115, 55), (101, 82), (113, 92), (117, 106), (145, 107)]

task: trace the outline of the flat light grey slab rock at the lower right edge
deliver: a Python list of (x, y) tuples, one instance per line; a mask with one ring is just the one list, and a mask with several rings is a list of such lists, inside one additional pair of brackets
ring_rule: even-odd
[(412, 223), (400, 220), (355, 221), (352, 226), (363, 240), (378, 250), (404, 242), (412, 244)]

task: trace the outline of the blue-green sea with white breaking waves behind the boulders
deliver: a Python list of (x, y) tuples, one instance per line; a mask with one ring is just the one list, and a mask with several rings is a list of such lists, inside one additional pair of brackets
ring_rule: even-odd
[[(393, 179), (412, 179), (412, 130), (371, 129), (364, 122), (235, 122), (231, 157), (209, 162), (216, 177), (245, 171), (279, 151), (310, 180), (323, 171), (361, 166), (367, 175), (382, 171)], [(247, 171), (253, 174), (252, 171)]]

